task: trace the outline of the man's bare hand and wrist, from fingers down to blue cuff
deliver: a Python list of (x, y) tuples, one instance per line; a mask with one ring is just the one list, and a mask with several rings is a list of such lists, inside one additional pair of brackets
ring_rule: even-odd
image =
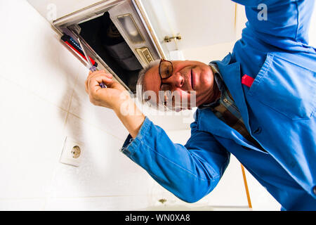
[[(107, 88), (101, 88), (103, 82)], [(104, 70), (89, 72), (86, 79), (86, 93), (89, 95), (93, 105), (111, 108), (124, 124), (129, 134), (136, 138), (141, 125), (145, 120), (145, 115), (136, 107), (129, 92), (112, 79), (112, 75)]]

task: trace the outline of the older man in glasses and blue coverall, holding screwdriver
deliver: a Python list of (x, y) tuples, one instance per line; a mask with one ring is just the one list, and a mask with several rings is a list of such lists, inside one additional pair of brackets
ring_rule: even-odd
[[(90, 73), (86, 91), (129, 130), (122, 152), (178, 198), (192, 203), (210, 193), (232, 153), (282, 210), (316, 210), (316, 53), (308, 46), (314, 0), (236, 2), (249, 21), (223, 60), (161, 60), (140, 73), (140, 91), (157, 94), (143, 101), (171, 100), (171, 108), (183, 110), (181, 102), (196, 97), (185, 146), (173, 143), (129, 96), (119, 97), (124, 88), (112, 75)], [(159, 91), (171, 95), (158, 98)], [(134, 113), (122, 113), (122, 104)]]

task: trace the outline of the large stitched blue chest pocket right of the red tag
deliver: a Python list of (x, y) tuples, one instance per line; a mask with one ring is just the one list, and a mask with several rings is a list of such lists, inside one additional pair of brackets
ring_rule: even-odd
[(316, 72), (268, 53), (248, 95), (292, 120), (315, 112)]

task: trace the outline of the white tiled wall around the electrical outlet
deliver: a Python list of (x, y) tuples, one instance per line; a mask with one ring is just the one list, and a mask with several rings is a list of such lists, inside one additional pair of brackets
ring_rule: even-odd
[[(89, 103), (88, 71), (48, 21), (24, 0), (1, 1), (0, 19), (0, 210), (142, 210), (160, 198), (164, 206), (246, 208), (241, 179), (228, 198), (230, 183), (195, 204), (166, 193), (119, 153), (127, 131), (111, 110)], [(79, 167), (60, 163), (66, 136), (84, 143)]]

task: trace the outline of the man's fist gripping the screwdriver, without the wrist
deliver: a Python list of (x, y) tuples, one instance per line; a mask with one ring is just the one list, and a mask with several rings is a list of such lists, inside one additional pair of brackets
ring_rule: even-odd
[[(106, 108), (119, 108), (121, 103), (128, 98), (128, 94), (124, 86), (115, 82), (113, 76), (104, 70), (89, 72), (86, 79), (86, 93), (89, 95), (93, 105), (103, 106)], [(101, 88), (100, 83), (103, 82), (107, 88)]]

